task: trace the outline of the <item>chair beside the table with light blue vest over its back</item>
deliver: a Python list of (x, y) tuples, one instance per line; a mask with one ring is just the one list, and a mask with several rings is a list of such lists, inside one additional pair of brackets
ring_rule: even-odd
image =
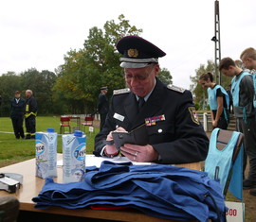
[[(233, 196), (243, 199), (243, 141), (244, 134), (215, 128), (210, 135), (209, 154), (205, 171), (210, 179), (219, 179), (226, 196), (228, 189)], [(236, 172), (232, 174), (232, 172)]]

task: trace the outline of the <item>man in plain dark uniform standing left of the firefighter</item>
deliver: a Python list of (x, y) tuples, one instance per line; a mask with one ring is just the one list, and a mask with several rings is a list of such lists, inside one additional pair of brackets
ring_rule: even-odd
[(16, 91), (14, 98), (10, 100), (10, 119), (16, 139), (24, 139), (23, 119), (25, 100), (21, 98), (19, 91)]

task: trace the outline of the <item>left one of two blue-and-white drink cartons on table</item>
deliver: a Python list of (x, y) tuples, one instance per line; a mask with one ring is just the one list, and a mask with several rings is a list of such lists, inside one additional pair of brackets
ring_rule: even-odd
[(46, 132), (36, 132), (36, 176), (57, 177), (57, 132), (47, 128)]

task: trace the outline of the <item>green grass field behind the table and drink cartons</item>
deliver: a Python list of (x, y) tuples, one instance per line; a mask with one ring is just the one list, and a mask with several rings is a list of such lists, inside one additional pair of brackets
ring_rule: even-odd
[[(71, 122), (71, 128), (77, 126), (76, 122)], [(36, 118), (36, 130), (46, 131), (47, 128), (54, 128), (56, 132), (60, 131), (59, 116), (38, 116)], [(26, 131), (26, 128), (24, 127)], [(88, 132), (88, 128), (86, 128)], [(91, 154), (94, 149), (94, 137), (99, 131), (88, 134), (86, 140), (86, 153)], [(62, 136), (58, 135), (58, 152), (63, 152)], [(35, 140), (16, 139), (13, 133), (11, 120), (8, 117), (0, 117), (0, 167), (22, 162), (35, 157)]]

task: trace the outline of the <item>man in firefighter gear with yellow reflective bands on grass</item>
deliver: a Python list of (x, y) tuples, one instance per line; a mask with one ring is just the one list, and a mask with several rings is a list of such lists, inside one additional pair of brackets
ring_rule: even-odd
[(25, 125), (27, 135), (25, 139), (35, 139), (37, 102), (31, 90), (26, 91)]

